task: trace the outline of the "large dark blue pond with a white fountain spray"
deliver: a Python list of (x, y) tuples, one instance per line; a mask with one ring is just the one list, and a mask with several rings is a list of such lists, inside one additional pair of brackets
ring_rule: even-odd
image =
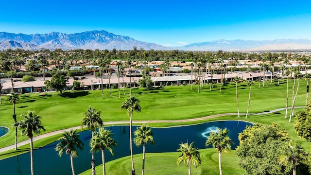
[[(194, 146), (199, 149), (206, 148), (205, 141), (209, 133), (216, 131), (217, 127), (226, 127), (229, 130), (229, 136), (234, 142), (232, 148), (235, 149), (239, 145), (238, 133), (242, 132), (247, 125), (252, 124), (239, 121), (219, 121), (172, 128), (152, 128), (155, 145), (146, 145), (146, 153), (174, 152), (179, 148), (179, 143), (187, 141), (194, 141)], [(114, 133), (113, 139), (117, 141), (118, 146), (113, 148), (115, 156), (105, 152), (105, 161), (129, 156), (129, 126), (109, 126), (107, 128)], [(137, 126), (134, 126), (133, 131), (136, 128)], [(76, 174), (91, 168), (91, 154), (88, 146), (91, 133), (84, 131), (79, 134), (85, 146), (84, 150), (79, 152), (79, 156), (73, 159)], [(64, 154), (62, 157), (58, 157), (57, 152), (54, 151), (56, 144), (57, 142), (54, 142), (34, 151), (34, 171), (36, 175), (71, 174), (69, 155)], [(133, 144), (133, 153), (142, 153), (142, 148)], [(95, 154), (96, 165), (102, 163), (101, 156), (101, 152)], [(0, 160), (0, 175), (30, 175), (30, 153)]]

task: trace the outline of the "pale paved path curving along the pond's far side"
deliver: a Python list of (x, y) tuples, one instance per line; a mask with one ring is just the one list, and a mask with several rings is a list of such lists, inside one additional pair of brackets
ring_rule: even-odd
[[(294, 108), (303, 108), (305, 106), (296, 106)], [(270, 114), (270, 113), (274, 113), (277, 111), (281, 111), (281, 110), (285, 110), (286, 108), (279, 108), (279, 109), (275, 109), (275, 110), (271, 110), (271, 111), (267, 111), (267, 112), (260, 112), (260, 113), (250, 113), (248, 115), (262, 115), (262, 114)], [(288, 109), (291, 109), (290, 107), (288, 107)], [(181, 122), (195, 122), (195, 121), (201, 121), (201, 120), (205, 120), (205, 119), (210, 119), (210, 118), (214, 118), (214, 117), (220, 117), (220, 116), (230, 116), (230, 115), (238, 115), (238, 113), (225, 113), (225, 114), (215, 114), (215, 115), (210, 115), (210, 116), (206, 116), (206, 117), (200, 117), (200, 118), (195, 118), (195, 119), (183, 119), (183, 120), (154, 120), (154, 121), (133, 121), (133, 123), (181, 123)], [(240, 113), (240, 115), (246, 115), (246, 113)], [(116, 121), (116, 122), (104, 122), (104, 125), (108, 125), (108, 124), (129, 124), (129, 121)], [(44, 133), (38, 136), (35, 136), (33, 138), (33, 141), (36, 140), (40, 140), (46, 137), (50, 137), (50, 136), (54, 136), (56, 134), (61, 134), (64, 133), (66, 131), (70, 131), (70, 129), (79, 129), (81, 128), (81, 126), (76, 126), (76, 127), (71, 127), (71, 128), (66, 128), (66, 129), (61, 129), (61, 130), (57, 130), (57, 131), (52, 131), (49, 133)], [(29, 140), (24, 140), (21, 142), (17, 143), (17, 147), (23, 146), (29, 144)], [(0, 148), (0, 153), (4, 152), (4, 151), (8, 151), (11, 149), (15, 149), (15, 144), (10, 145), (10, 146), (6, 146), (3, 148)]]

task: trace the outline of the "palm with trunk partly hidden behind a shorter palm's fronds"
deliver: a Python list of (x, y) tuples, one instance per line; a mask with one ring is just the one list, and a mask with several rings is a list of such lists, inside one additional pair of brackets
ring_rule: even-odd
[[(101, 111), (96, 111), (92, 106), (84, 113), (84, 118), (81, 121), (81, 125), (87, 126), (87, 128), (92, 132), (96, 131), (98, 125), (103, 126), (103, 120), (101, 119)], [(95, 175), (95, 159), (94, 159), (94, 152), (92, 153), (92, 175)]]

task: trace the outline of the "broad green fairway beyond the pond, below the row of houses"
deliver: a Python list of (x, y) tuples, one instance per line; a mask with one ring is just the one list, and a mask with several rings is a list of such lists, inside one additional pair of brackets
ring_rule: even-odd
[[(239, 108), (241, 113), (247, 110), (249, 88), (246, 82), (239, 85)], [(291, 87), (289, 84), (289, 104), (292, 102)], [(219, 84), (215, 85), (212, 91), (209, 91), (209, 85), (205, 85), (200, 93), (197, 92), (198, 86), (168, 86), (155, 90), (145, 90), (143, 88), (134, 88), (133, 95), (140, 100), (141, 112), (134, 113), (133, 120), (180, 120), (204, 117), (213, 114), (237, 112), (235, 84), (226, 85), (219, 92)], [(296, 86), (297, 87), (297, 86)], [(306, 82), (300, 80), (298, 97), (295, 105), (305, 105)], [(109, 97), (109, 91), (104, 91), (104, 99), (101, 98), (101, 91), (68, 91), (62, 96), (59, 92), (51, 93), (33, 93), (19, 95), (20, 101), (16, 104), (17, 120), (20, 120), (19, 114), (26, 114), (28, 110), (35, 111), (42, 117), (42, 125), (45, 126), (46, 132), (59, 129), (79, 126), (83, 113), (89, 105), (102, 111), (102, 119), (107, 121), (128, 121), (126, 110), (121, 110), (122, 102), (129, 96), (129, 89), (121, 98), (118, 97), (118, 89), (112, 89), (112, 97)], [(10, 131), (1, 137), (0, 147), (14, 144), (14, 121), (12, 119), (13, 105), (8, 104), (6, 96), (2, 96), (3, 105), (0, 105), (0, 125), (10, 128)], [(284, 107), (286, 104), (286, 81), (281, 81), (277, 86), (276, 82), (270, 85), (258, 87), (258, 83), (252, 86), (252, 100), (250, 113), (263, 112)], [(249, 117), (250, 120), (252, 116)], [(211, 120), (236, 119), (235, 117), (220, 117)], [(204, 122), (204, 121), (202, 121)], [(191, 123), (202, 123), (191, 122)], [(191, 123), (153, 123), (152, 126), (163, 127)], [(18, 134), (18, 141), (26, 140), (27, 137), (21, 137)], [(52, 140), (47, 139), (45, 143)], [(36, 144), (36, 143), (35, 143)], [(41, 141), (41, 145), (44, 142)], [(36, 145), (35, 145), (36, 146)]]

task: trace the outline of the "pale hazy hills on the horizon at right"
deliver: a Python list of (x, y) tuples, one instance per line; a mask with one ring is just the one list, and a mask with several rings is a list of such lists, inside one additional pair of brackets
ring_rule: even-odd
[(192, 43), (178, 50), (185, 51), (288, 51), (311, 50), (311, 40), (308, 39), (277, 39), (262, 41), (225, 40)]

